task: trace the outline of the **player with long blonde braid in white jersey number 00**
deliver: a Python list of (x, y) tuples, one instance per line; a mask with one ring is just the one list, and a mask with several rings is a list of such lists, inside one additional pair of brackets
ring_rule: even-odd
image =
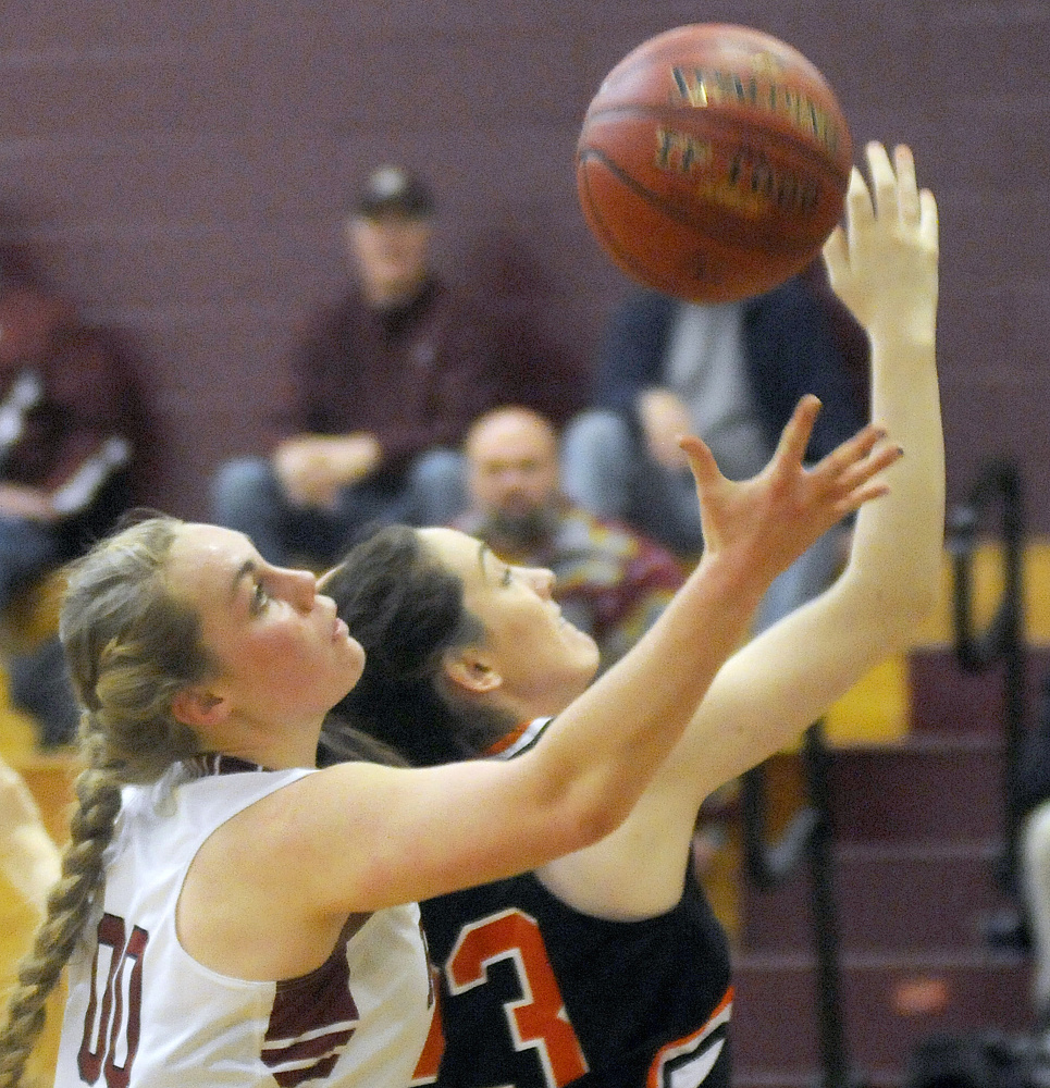
[[(726, 480), (683, 438), (707, 554), (616, 677), (506, 763), (318, 770), (325, 715), (365, 655), (313, 573), (272, 566), (240, 533), (165, 517), (100, 542), (70, 571), (60, 626), (87, 769), (0, 1031), (0, 1088), (22, 1083), (74, 954), (62, 1088), (394, 1084), (420, 1056), (432, 1003), (422, 945), (405, 943), (391, 908), (531, 869), (617, 827), (773, 579), (885, 493), (874, 478), (897, 454), (874, 429), (803, 466), (816, 410), (799, 408), (751, 481)], [(594, 643), (546, 594), (504, 584), (477, 541), (450, 530), (421, 541), (435, 564), (452, 549), (479, 591), (499, 583), (508, 635), (542, 629), (558, 659), (593, 670)], [(186, 781), (209, 754), (262, 769)], [(319, 982), (344, 1010), (334, 1022), (302, 1013)]]

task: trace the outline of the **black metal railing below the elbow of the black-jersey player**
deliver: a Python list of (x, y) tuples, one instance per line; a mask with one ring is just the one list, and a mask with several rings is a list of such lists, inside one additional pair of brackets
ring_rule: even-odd
[(808, 862), (810, 908), (817, 963), (820, 1088), (855, 1088), (858, 1080), (850, 1067), (842, 1015), (828, 761), (824, 724), (816, 721), (806, 730), (802, 743), (806, 800), (776, 842), (768, 836), (764, 767), (754, 767), (743, 776), (743, 850), (748, 875), (764, 891), (780, 886), (803, 862)]

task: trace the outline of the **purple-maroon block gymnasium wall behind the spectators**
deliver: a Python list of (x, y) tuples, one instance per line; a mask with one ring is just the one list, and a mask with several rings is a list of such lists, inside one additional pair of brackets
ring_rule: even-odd
[(626, 281), (576, 203), (588, 100), (682, 23), (785, 38), (856, 143), (911, 143), (943, 225), (954, 498), (989, 458), (1050, 531), (1050, 7), (1042, 0), (9, 0), (0, 201), (59, 284), (139, 341), (163, 422), (157, 503), (202, 516), (258, 448), (308, 306), (346, 276), (338, 220), (373, 164), (430, 174), (442, 263), (534, 308), (585, 366)]

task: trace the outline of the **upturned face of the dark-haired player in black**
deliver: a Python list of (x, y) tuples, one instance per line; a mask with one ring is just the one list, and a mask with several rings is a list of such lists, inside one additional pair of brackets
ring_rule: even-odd
[(502, 695), (529, 715), (557, 714), (591, 682), (594, 640), (561, 616), (549, 570), (512, 567), (454, 529), (419, 530), (425, 547), (464, 583), (464, 602), (485, 628), (483, 652)]

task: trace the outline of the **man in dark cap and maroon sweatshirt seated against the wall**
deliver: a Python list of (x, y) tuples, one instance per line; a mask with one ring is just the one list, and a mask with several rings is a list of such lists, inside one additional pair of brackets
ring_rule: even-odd
[(419, 177), (370, 175), (346, 223), (357, 283), (302, 344), (272, 455), (217, 473), (214, 520), (271, 561), (332, 561), (383, 522), (447, 523), (466, 503), (471, 421), (523, 378), (542, 384), (493, 296), (434, 270), (434, 212)]

